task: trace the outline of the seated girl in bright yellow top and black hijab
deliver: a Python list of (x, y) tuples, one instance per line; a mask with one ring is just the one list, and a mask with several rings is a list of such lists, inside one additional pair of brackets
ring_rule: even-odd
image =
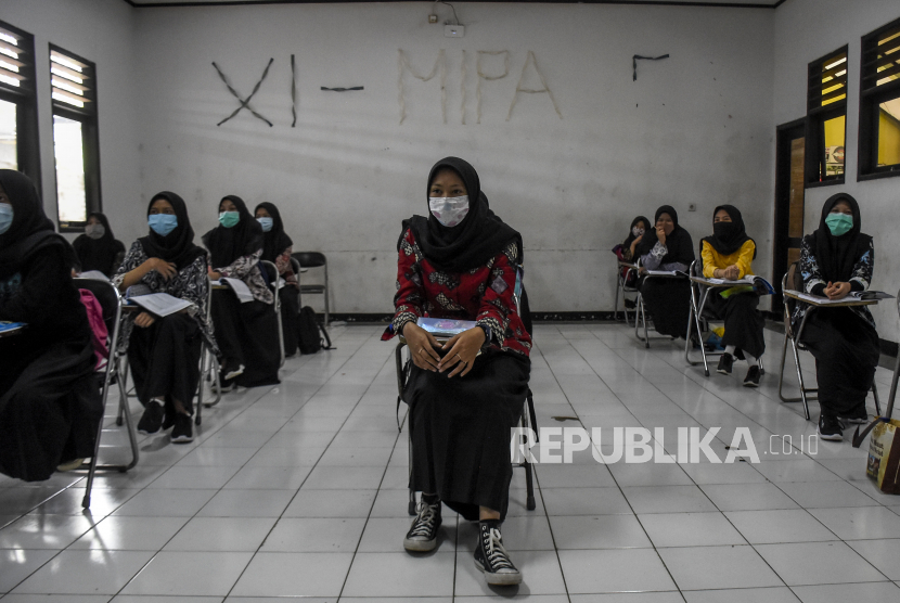
[[(707, 279), (727, 279), (735, 281), (753, 274), (753, 260), (756, 257), (756, 243), (747, 236), (744, 218), (732, 205), (720, 205), (712, 211), (712, 236), (700, 242), (703, 257), (703, 275)], [(709, 293), (706, 307), (725, 321), (725, 335), (722, 345), (725, 352), (719, 359), (718, 371), (730, 375), (735, 354), (743, 354), (749, 364), (745, 387), (759, 386), (759, 357), (766, 351), (762, 338), (764, 321), (756, 307), (759, 296), (751, 285), (746, 291), (728, 290), (728, 298), (722, 290)]]

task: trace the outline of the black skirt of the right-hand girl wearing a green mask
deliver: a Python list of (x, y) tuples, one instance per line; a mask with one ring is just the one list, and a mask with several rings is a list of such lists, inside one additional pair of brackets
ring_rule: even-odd
[(815, 357), (819, 406), (825, 414), (844, 416), (865, 403), (872, 388), (878, 332), (849, 308), (809, 311), (800, 341)]

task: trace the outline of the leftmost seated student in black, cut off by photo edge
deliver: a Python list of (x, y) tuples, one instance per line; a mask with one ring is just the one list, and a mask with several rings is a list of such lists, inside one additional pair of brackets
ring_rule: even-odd
[(36, 482), (93, 457), (103, 416), (75, 254), (27, 176), (0, 169), (0, 473)]

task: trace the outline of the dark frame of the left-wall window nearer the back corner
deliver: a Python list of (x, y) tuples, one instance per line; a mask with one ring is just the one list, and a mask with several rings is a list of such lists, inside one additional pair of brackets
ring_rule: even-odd
[[(53, 77), (50, 69), (55, 64), (54, 61), (51, 59), (52, 53), (56, 52), (60, 54), (65, 55), (68, 59), (77, 61), (78, 63), (85, 65), (83, 68), (87, 68), (88, 72), (86, 75), (88, 76), (87, 79), (91, 81), (90, 86), (88, 86), (88, 90), (86, 90), (85, 97), (89, 99), (90, 102), (85, 103), (85, 107), (80, 108), (74, 105), (69, 105), (63, 103), (62, 101), (57, 101), (53, 99)], [(48, 52), (48, 74), (50, 77), (50, 102), (51, 102), (51, 118), (55, 118), (56, 116), (64, 117), (66, 119), (72, 119), (81, 124), (81, 156), (83, 157), (83, 169), (85, 169), (85, 215), (86, 217), (89, 216), (92, 211), (102, 211), (103, 210), (103, 200), (101, 195), (101, 180), (100, 180), (100, 130), (98, 127), (98, 107), (97, 107), (97, 99), (98, 99), (98, 82), (97, 82), (97, 64), (92, 61), (89, 61), (82, 56), (75, 54), (64, 48), (61, 48), (52, 42), (49, 43), (49, 52)], [(53, 124), (51, 123), (51, 126)], [(56, 157), (56, 140), (54, 136), (53, 140), (53, 157), (54, 157), (54, 166), (55, 166), (55, 157)], [(56, 224), (60, 229), (60, 232), (85, 232), (85, 226), (87, 226), (87, 220), (83, 222), (64, 222), (60, 219), (60, 200), (59, 200), (59, 182), (57, 182), (57, 175), (56, 169), (54, 167), (53, 170), (53, 181), (56, 184), (54, 190), (56, 191)]]

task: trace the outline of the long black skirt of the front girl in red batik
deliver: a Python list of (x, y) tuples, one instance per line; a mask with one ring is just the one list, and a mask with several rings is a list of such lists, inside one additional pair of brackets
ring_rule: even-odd
[(513, 470), (511, 429), (528, 394), (531, 363), (515, 352), (488, 350), (464, 377), (412, 368), (403, 399), (410, 405), (412, 483), (437, 493), (468, 521), (478, 508), (509, 505)]

